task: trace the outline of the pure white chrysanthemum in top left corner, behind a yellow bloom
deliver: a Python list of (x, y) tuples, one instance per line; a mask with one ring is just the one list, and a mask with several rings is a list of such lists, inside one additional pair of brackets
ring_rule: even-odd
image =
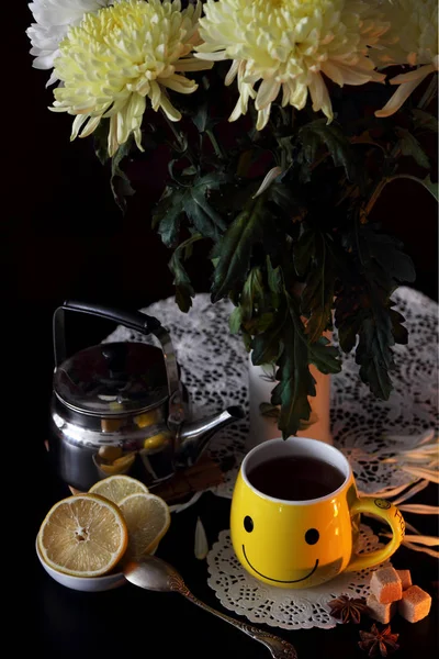
[[(37, 69), (52, 69), (59, 55), (59, 43), (70, 25), (79, 25), (88, 11), (99, 11), (112, 0), (35, 0), (29, 4), (35, 23), (26, 30), (31, 41), (31, 55), (35, 55), (32, 66)], [(47, 86), (57, 80), (52, 74)]]

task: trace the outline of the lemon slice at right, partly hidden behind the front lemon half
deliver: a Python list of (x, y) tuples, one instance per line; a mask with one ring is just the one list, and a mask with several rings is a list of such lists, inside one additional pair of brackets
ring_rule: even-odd
[(171, 523), (169, 506), (156, 494), (130, 494), (119, 503), (128, 528), (126, 557), (137, 560), (150, 554)]

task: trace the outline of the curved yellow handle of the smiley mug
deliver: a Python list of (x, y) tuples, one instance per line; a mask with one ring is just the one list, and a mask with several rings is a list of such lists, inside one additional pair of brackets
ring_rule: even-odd
[(405, 534), (405, 522), (401, 511), (385, 499), (360, 496), (350, 507), (352, 516), (359, 513), (371, 513), (384, 520), (392, 529), (392, 538), (381, 549), (368, 554), (354, 554), (346, 568), (348, 572), (373, 568), (387, 560), (399, 547)]

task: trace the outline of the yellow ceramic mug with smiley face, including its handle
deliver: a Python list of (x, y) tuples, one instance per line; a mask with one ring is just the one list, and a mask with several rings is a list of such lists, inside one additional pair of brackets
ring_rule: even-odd
[[(360, 513), (392, 529), (382, 548), (356, 554)], [(269, 439), (244, 458), (230, 509), (234, 551), (254, 577), (279, 588), (309, 588), (345, 570), (389, 559), (404, 538), (398, 509), (359, 496), (352, 469), (334, 446), (308, 439)]]

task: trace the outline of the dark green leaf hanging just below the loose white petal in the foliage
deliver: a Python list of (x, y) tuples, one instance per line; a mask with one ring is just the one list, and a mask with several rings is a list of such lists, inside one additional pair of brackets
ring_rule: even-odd
[(246, 279), (251, 248), (262, 239), (264, 220), (263, 197), (250, 200), (215, 246), (213, 257), (219, 260), (213, 277), (213, 302), (226, 298)]

